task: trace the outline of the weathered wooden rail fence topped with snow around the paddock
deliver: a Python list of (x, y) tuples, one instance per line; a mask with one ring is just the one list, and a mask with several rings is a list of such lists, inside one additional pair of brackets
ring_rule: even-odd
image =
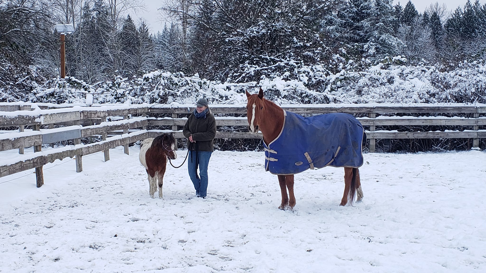
[[(226, 114), (245, 114), (246, 105), (211, 105), (216, 114), (217, 126), (247, 126), (245, 117), (224, 117)], [(21, 155), (0, 161), (0, 177), (20, 171), (35, 168), (37, 187), (42, 186), (42, 166), (56, 159), (76, 157), (76, 171), (82, 171), (82, 156), (104, 151), (105, 161), (109, 160), (109, 149), (124, 146), (128, 154), (128, 144), (158, 134), (174, 132), (174, 137), (184, 138), (179, 126), (183, 126), (187, 118), (179, 118), (180, 114), (190, 114), (194, 105), (126, 105), (101, 104), (85, 106), (82, 104), (49, 104), (49, 103), (0, 103), (0, 127), (18, 126), (19, 130), (0, 134), (0, 151), (19, 149), (23, 154), (24, 147), (34, 147), (34, 154)], [(370, 152), (375, 151), (375, 140), (378, 138), (472, 138), (473, 147), (479, 146), (479, 138), (486, 138), (486, 130), (479, 126), (486, 125), (486, 104), (312, 104), (283, 105), (282, 108), (299, 114), (349, 113), (367, 114), (358, 118), (364, 125), (370, 140)], [(457, 113), (468, 114), (466, 117), (444, 116), (377, 116), (382, 114), (407, 113)], [(147, 118), (152, 114), (169, 114), (167, 118)], [(140, 116), (131, 118), (132, 115)], [(480, 117), (482, 115), (483, 117)], [(106, 121), (107, 117), (123, 117), (122, 120)], [(130, 119), (129, 119), (130, 117)], [(93, 124), (96, 125), (87, 125)], [(81, 124), (81, 125), (80, 125)], [(50, 129), (40, 129), (48, 125)], [(55, 128), (54, 125), (65, 127)], [(146, 130), (147, 126), (171, 126), (172, 130)], [(376, 131), (376, 126), (387, 125), (417, 125), (417, 126), (471, 126), (465, 131), (435, 131), (435, 132), (398, 132)], [(33, 126), (32, 131), (25, 131), (25, 126)], [(131, 132), (129, 130), (138, 129)], [(114, 131), (121, 131), (116, 135)], [(111, 136), (108, 137), (108, 133)], [(101, 142), (81, 144), (81, 137), (102, 135)], [(260, 138), (261, 134), (248, 132), (217, 132), (217, 138)], [(61, 147), (41, 152), (42, 144), (74, 139), (74, 147)]]

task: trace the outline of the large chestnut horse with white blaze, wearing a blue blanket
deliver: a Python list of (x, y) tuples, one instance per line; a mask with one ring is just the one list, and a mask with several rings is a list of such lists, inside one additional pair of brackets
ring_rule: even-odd
[[(278, 208), (295, 206), (294, 174), (314, 167), (344, 167), (345, 188), (340, 205), (352, 204), (355, 195), (357, 201), (361, 201), (363, 191), (358, 167), (363, 164), (362, 145), (366, 135), (357, 119), (344, 113), (304, 118), (264, 99), (261, 88), (258, 94), (246, 92), (246, 96), (248, 130), (252, 134), (261, 131), (265, 169), (278, 175), (282, 194)], [(286, 142), (278, 144), (282, 139)], [(302, 152), (299, 149), (303, 149)], [(282, 164), (286, 165), (282, 167)]]

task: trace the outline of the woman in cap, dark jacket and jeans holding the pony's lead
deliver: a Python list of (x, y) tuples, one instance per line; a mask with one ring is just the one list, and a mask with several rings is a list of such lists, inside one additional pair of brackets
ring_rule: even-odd
[[(196, 109), (184, 125), (184, 136), (188, 141), (189, 159), (188, 171), (192, 184), (196, 189), (196, 196), (205, 198), (208, 190), (208, 164), (214, 151), (214, 137), (216, 136), (216, 121), (209, 110), (208, 101), (200, 99)], [(197, 166), (199, 165), (199, 176)]]

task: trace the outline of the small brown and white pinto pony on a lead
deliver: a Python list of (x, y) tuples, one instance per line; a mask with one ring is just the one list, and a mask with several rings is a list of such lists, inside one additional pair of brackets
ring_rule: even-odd
[(175, 138), (172, 134), (163, 134), (156, 138), (146, 138), (140, 144), (140, 163), (145, 167), (149, 179), (150, 197), (154, 198), (158, 180), (158, 197), (162, 198), (162, 185), (167, 158), (175, 159)]

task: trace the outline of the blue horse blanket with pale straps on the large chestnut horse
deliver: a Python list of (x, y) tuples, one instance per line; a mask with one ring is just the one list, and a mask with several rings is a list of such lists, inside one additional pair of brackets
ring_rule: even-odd
[(295, 174), (307, 169), (358, 168), (363, 165), (361, 123), (349, 114), (331, 113), (309, 118), (284, 111), (280, 135), (265, 148), (265, 170)]

